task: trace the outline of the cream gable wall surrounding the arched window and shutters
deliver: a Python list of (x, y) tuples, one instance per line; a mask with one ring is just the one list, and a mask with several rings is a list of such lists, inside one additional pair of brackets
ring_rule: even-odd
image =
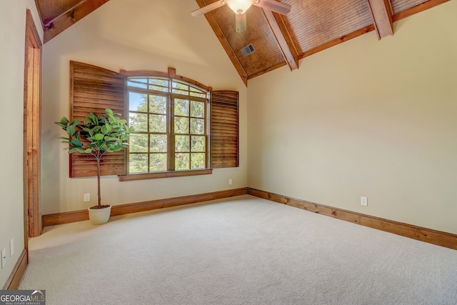
[[(69, 179), (68, 154), (54, 121), (69, 116), (69, 61), (112, 71), (176, 68), (176, 73), (212, 86), (240, 91), (241, 162), (236, 169), (212, 175), (119, 182), (104, 176), (104, 204), (139, 201), (236, 189), (247, 185), (246, 86), (238, 76), (208, 22), (192, 17), (195, 1), (111, 0), (44, 45), (42, 121), (43, 214), (86, 209), (96, 204), (96, 178)], [(233, 185), (229, 186), (229, 179)], [(83, 194), (91, 202), (83, 202)]]

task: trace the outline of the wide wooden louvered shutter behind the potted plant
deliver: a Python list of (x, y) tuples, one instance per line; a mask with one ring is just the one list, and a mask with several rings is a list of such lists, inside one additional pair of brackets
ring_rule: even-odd
[[(70, 121), (91, 112), (99, 115), (109, 108), (125, 116), (125, 76), (98, 66), (70, 61)], [(70, 154), (70, 177), (96, 176), (94, 156)], [(101, 175), (126, 174), (126, 150), (107, 153), (101, 159)]]

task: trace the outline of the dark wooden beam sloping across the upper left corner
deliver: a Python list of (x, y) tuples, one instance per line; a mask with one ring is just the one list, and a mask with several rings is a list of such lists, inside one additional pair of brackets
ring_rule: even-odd
[[(68, 29), (69, 26), (72, 26), (83, 19), (108, 1), (109, 0), (82, 0), (71, 9), (64, 11), (54, 19), (47, 21), (46, 24), (43, 23), (44, 43), (53, 39), (62, 31)], [(41, 18), (43, 18), (43, 16), (41, 16)]]

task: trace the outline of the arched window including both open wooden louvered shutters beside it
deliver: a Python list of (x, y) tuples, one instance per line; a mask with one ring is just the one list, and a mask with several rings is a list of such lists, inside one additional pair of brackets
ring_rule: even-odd
[[(71, 120), (110, 108), (135, 128), (129, 151), (102, 159), (102, 176), (135, 181), (238, 166), (237, 91), (213, 91), (172, 68), (118, 73), (70, 61), (70, 75)], [(94, 158), (69, 155), (70, 177), (96, 174)]]

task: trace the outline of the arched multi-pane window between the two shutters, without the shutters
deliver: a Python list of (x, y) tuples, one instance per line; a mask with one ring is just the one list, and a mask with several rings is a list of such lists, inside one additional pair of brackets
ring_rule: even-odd
[(129, 174), (209, 168), (209, 91), (179, 79), (131, 76)]

